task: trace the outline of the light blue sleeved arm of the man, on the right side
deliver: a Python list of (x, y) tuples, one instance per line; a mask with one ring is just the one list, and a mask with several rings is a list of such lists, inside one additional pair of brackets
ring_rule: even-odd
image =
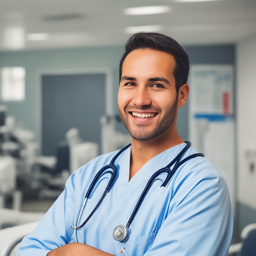
[[(187, 176), (186, 180), (192, 180), (190, 184), (184, 180), (179, 184), (176, 180), (175, 186), (182, 189), (174, 189), (170, 214), (144, 256), (227, 255), (233, 218), (226, 183), (218, 176), (210, 175), (200, 181), (197, 176)], [(175, 198), (180, 198), (177, 204)]]

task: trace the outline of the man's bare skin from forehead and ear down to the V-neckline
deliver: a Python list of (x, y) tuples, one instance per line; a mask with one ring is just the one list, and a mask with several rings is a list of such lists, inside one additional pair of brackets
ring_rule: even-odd
[(132, 137), (130, 178), (155, 155), (184, 142), (176, 119), (189, 86), (176, 91), (174, 69), (174, 57), (155, 49), (135, 49), (124, 59), (118, 107)]

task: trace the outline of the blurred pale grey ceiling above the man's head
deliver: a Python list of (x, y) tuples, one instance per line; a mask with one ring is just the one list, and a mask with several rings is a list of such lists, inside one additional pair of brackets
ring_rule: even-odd
[[(127, 27), (146, 25), (153, 27), (135, 31), (155, 30), (182, 45), (237, 43), (256, 34), (256, 0), (178, 1), (0, 0), (0, 50), (124, 45)], [(124, 13), (144, 6), (168, 10)]]

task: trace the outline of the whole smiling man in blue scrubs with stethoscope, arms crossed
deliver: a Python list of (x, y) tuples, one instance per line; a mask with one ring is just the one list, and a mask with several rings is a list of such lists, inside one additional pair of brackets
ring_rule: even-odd
[(176, 127), (189, 94), (186, 52), (168, 36), (137, 33), (119, 74), (131, 145), (73, 173), (17, 255), (226, 256), (227, 184)]

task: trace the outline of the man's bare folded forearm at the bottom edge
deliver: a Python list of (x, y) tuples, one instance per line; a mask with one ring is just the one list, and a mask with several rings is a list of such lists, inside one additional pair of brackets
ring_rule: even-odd
[(82, 243), (70, 243), (58, 247), (47, 254), (47, 256), (113, 256), (99, 249)]

